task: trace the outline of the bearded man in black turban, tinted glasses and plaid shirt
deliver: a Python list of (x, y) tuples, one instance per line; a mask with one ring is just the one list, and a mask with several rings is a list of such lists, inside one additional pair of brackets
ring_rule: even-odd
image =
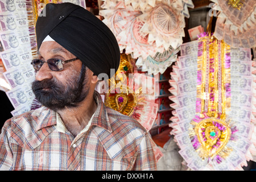
[[(117, 71), (118, 43), (72, 3), (47, 4), (36, 22), (33, 92), (43, 107), (6, 121), (2, 170), (154, 170), (151, 140), (130, 117), (105, 107), (98, 75)], [(63, 64), (62, 61), (65, 61)]]

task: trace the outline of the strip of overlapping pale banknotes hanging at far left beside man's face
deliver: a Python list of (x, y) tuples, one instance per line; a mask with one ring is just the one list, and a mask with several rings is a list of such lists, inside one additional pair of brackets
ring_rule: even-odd
[(11, 90), (6, 92), (14, 110), (11, 114), (18, 115), (30, 110), (34, 98), (31, 82), (35, 75), (30, 61), (34, 54), (35, 34), (31, 27), (31, 3), (28, 1), (1, 2), (1, 59), (5, 65), (3, 72)]

